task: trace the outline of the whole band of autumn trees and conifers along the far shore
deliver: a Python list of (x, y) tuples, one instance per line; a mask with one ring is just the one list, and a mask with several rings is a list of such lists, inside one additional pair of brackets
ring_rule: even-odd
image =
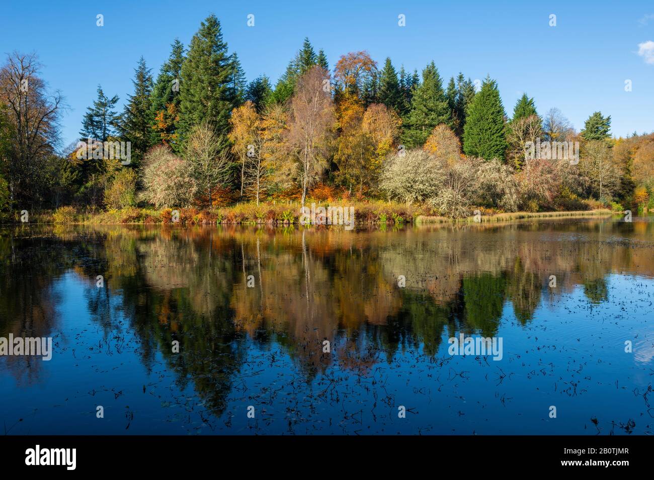
[[(86, 144), (61, 145), (67, 106), (40, 70), (19, 52), (0, 70), (0, 210), (14, 217), (307, 199), (393, 200), (453, 218), (654, 208), (654, 134), (613, 138), (602, 112), (576, 131), (526, 93), (508, 114), (490, 76), (444, 82), (433, 61), (419, 74), (360, 51), (332, 68), (305, 39), (274, 85), (246, 82), (211, 15), (188, 46), (174, 40), (156, 76), (141, 57), (122, 111), (97, 87), (78, 139), (100, 152), (89, 158)], [(114, 142), (129, 144), (128, 162), (107, 155)], [(546, 155), (526, 154), (530, 142)], [(579, 161), (556, 158), (551, 142), (577, 145)]]

